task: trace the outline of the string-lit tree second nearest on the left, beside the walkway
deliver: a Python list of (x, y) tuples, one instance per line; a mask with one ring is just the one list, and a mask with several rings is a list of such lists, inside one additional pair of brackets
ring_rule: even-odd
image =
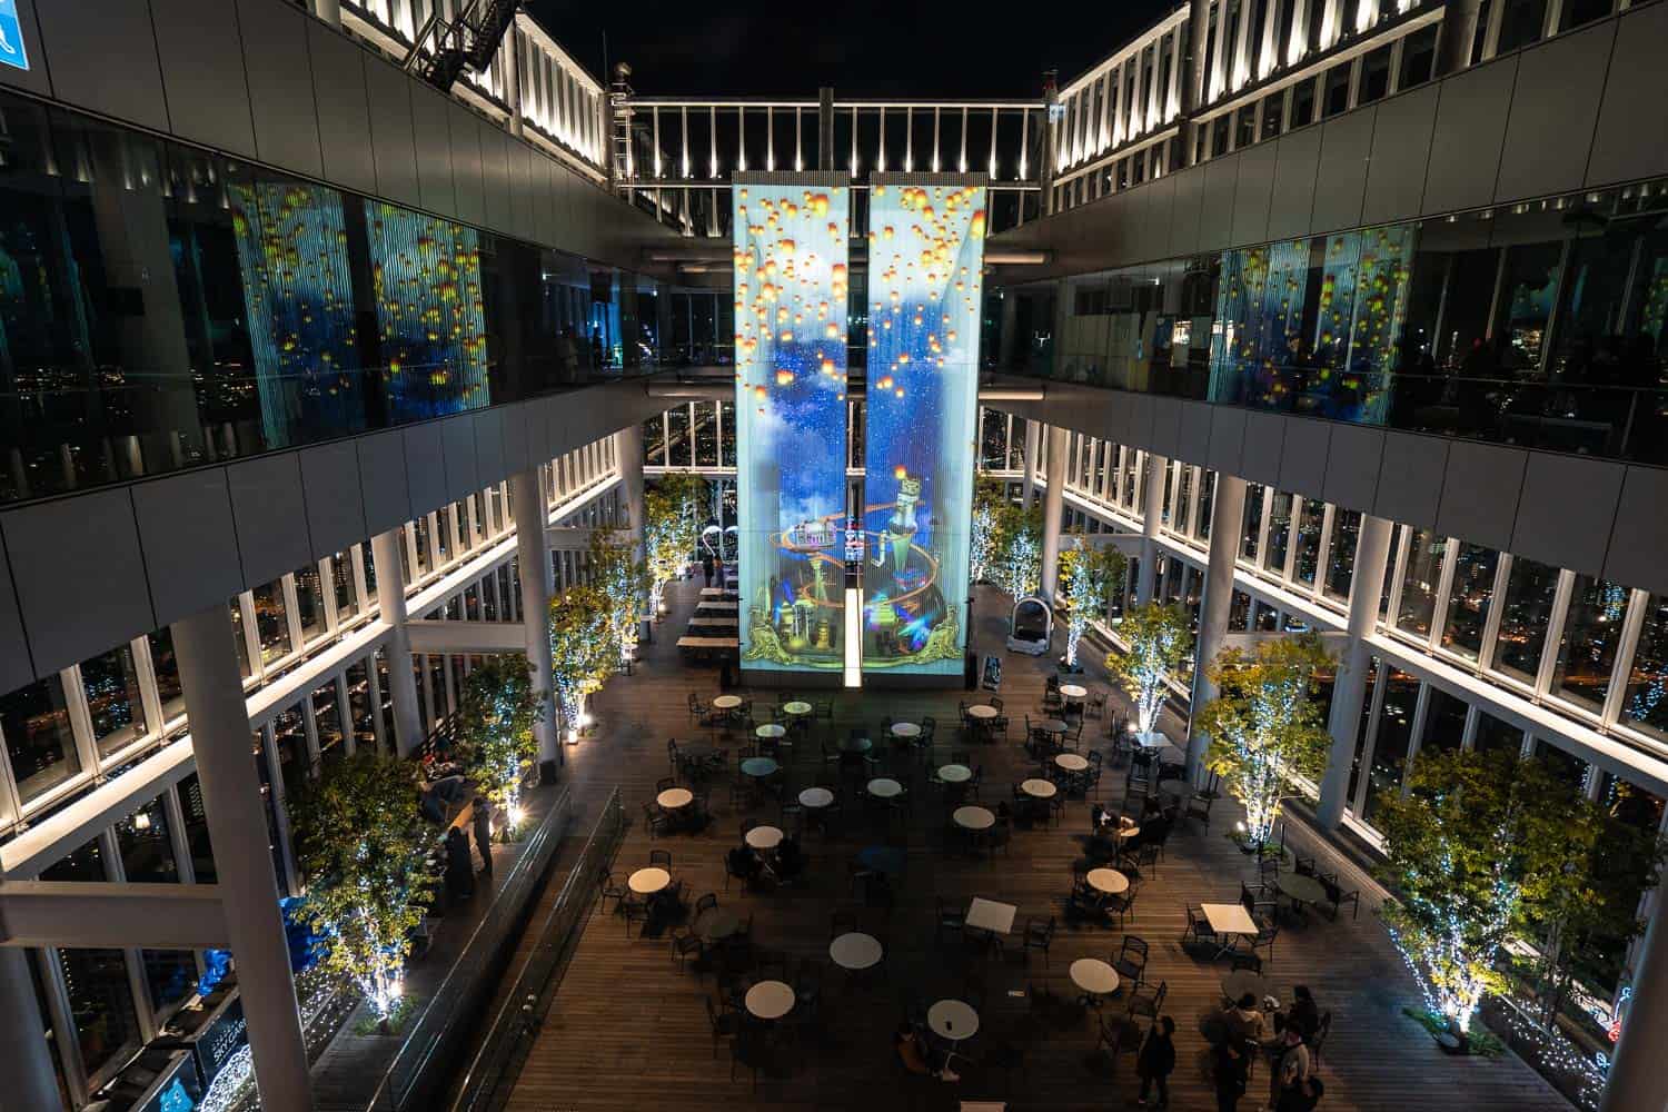
[(539, 759), (534, 725), (544, 700), (532, 687), (532, 665), (522, 654), (485, 657), (464, 680), (457, 707), (457, 749), (469, 777), (509, 817), (520, 815), (520, 789)]

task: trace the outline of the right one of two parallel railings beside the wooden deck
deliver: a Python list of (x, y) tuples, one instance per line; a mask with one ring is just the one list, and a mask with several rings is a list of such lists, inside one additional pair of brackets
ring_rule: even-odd
[(569, 870), (560, 895), (539, 927), (527, 965), (492, 1019), (492, 1029), (469, 1065), (452, 1112), (497, 1112), (509, 1102), (539, 1025), (562, 984), (580, 927), (595, 904), (597, 877), (614, 862), (624, 837), (626, 809), (620, 805), (619, 789), (614, 789)]

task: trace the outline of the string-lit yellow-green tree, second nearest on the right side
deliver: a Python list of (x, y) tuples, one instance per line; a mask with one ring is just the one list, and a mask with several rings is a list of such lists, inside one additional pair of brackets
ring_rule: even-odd
[(1204, 764), (1244, 805), (1244, 844), (1256, 850), (1268, 845), (1296, 779), (1326, 772), (1331, 737), (1311, 695), (1329, 664), (1319, 639), (1303, 635), (1264, 640), (1254, 652), (1224, 649), (1206, 665), (1218, 695), (1198, 715), (1211, 737)]

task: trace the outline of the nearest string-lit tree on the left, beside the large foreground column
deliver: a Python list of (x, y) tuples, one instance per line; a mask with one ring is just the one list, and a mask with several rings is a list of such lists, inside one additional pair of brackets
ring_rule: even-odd
[(370, 749), (325, 765), (289, 800), (307, 879), (300, 914), (329, 939), (325, 969), (364, 994), (384, 1030), (434, 889), (424, 869), (434, 830), (417, 800), (417, 765)]

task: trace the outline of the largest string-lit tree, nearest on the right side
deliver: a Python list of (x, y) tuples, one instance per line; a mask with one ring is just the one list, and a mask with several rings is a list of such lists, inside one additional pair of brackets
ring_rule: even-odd
[(1540, 757), (1506, 750), (1419, 754), (1406, 794), (1378, 797), (1384, 925), (1424, 1000), (1465, 1044), (1488, 995), (1506, 990), (1506, 944), (1533, 937), (1568, 885), (1581, 799)]

